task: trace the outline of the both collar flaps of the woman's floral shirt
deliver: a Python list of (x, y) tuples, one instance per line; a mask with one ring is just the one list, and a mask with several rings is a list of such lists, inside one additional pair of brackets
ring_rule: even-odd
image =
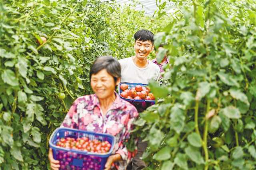
[[(125, 108), (126, 105), (124, 104), (123, 100), (120, 98), (120, 96), (116, 92), (114, 92), (114, 93), (116, 95), (116, 100), (113, 102), (113, 104), (109, 110)], [(92, 94), (91, 101), (92, 101), (92, 104), (87, 106), (87, 110), (92, 110), (92, 109), (94, 109), (95, 106), (98, 106), (98, 108), (100, 108), (100, 100), (98, 99), (96, 94)]]

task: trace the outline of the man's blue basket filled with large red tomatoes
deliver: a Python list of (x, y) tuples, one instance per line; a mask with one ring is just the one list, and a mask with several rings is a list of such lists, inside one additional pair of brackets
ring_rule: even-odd
[(134, 105), (138, 112), (143, 112), (155, 104), (154, 94), (150, 92), (148, 84), (120, 82), (118, 94), (122, 99)]

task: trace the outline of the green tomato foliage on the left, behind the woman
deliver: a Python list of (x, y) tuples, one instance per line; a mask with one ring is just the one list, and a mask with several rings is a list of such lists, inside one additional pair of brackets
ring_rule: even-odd
[(156, 28), (139, 19), (150, 20), (111, 1), (0, 2), (0, 170), (49, 168), (49, 136), (92, 92), (95, 58), (131, 56), (134, 32)]

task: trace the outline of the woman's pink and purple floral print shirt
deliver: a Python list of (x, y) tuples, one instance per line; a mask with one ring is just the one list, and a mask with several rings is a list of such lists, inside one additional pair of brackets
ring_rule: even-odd
[(116, 144), (112, 154), (120, 154), (122, 160), (112, 164), (111, 169), (126, 170), (134, 154), (127, 150), (124, 142), (128, 140), (132, 122), (137, 116), (136, 108), (122, 100), (118, 94), (110, 109), (103, 115), (98, 97), (91, 94), (74, 101), (61, 126), (115, 136)]

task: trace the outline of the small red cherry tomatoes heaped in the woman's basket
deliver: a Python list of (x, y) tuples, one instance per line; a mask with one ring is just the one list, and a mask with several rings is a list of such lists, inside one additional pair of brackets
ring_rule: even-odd
[(110, 150), (111, 144), (108, 141), (100, 141), (97, 139), (89, 140), (88, 137), (82, 138), (60, 138), (57, 146), (69, 149), (82, 150), (94, 153), (106, 153)]

